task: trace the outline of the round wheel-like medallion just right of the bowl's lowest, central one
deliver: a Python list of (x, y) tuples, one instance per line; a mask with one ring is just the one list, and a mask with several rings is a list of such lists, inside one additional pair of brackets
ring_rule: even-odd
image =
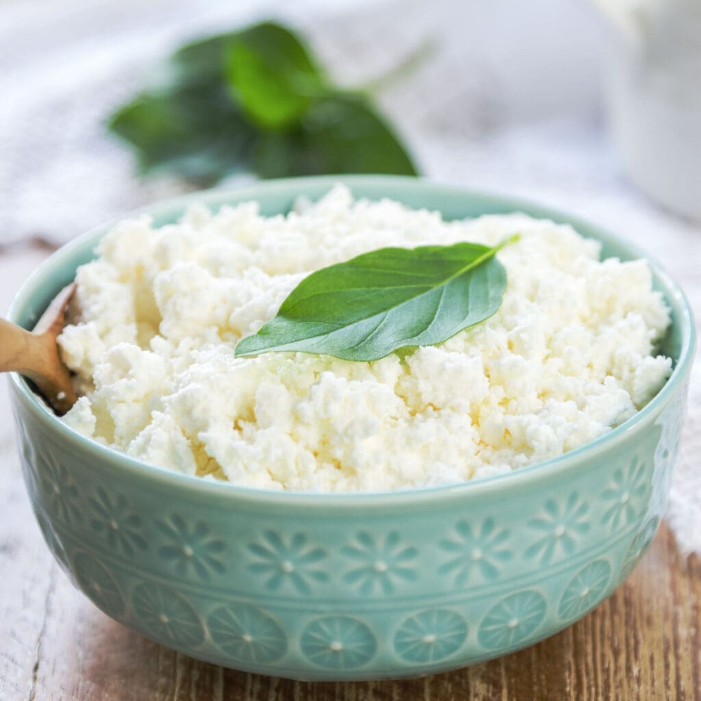
[(397, 655), (407, 662), (439, 662), (461, 647), (468, 625), (461, 615), (429, 609), (409, 616), (395, 633)]

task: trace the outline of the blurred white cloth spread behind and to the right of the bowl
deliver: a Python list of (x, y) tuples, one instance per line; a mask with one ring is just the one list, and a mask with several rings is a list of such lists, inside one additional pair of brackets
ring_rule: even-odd
[[(276, 17), (299, 25), (346, 84), (383, 73), (426, 39), (437, 53), (381, 96), (421, 170), (533, 198), (636, 240), (701, 310), (701, 228), (632, 189), (599, 118), (604, 27), (577, 0), (13, 0), (0, 7), (0, 247), (60, 244), (184, 191), (139, 182), (104, 130), (149, 64), (187, 38)], [(701, 554), (701, 372), (668, 520)]]

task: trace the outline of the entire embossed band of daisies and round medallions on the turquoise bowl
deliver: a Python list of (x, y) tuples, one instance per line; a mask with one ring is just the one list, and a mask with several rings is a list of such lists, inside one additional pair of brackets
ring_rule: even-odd
[[(661, 430), (656, 438), (660, 435)], [(428, 544), (426, 539), (416, 540), (416, 535), (412, 539), (397, 530), (363, 529), (330, 548), (324, 547), (329, 543), (324, 529), (281, 533), (260, 527), (255, 531), (257, 537), (245, 538), (235, 550), (226, 545), (226, 533), (210, 525), (204, 515), (185, 519), (177, 512), (149, 512), (139, 507), (137, 497), (127, 498), (114, 485), (109, 489), (97, 483), (92, 490), (87, 485), (83, 489), (81, 482), (66, 474), (67, 468), (50, 463), (44, 452), (36, 444), (32, 451), (25, 451), (38, 461), (37, 475), (43, 474), (33, 482), (36, 494), (46, 500), (41, 502), (39, 522), (48, 533), (50, 548), (97, 606), (127, 622), (132, 620), (131, 610), (132, 625), (165, 644), (202, 654), (207, 649), (203, 643), (209, 640), (218, 662), (229, 660), (235, 667), (271, 674), (276, 673), (277, 665), (297, 655), (329, 675), (357, 672), (362, 678), (363, 669), (379, 664), (380, 653), (388, 654), (387, 647), (396, 664), (407, 670), (433, 669), (431, 665), (440, 669), (458, 655), (464, 656), (465, 650), (468, 660), (478, 660), (492, 651), (517, 648), (540, 637), (549, 605), (562, 622), (572, 622), (596, 606), (612, 583), (625, 578), (639, 562), (659, 524), (657, 517), (640, 524), (652, 484), (653, 461), (636, 456), (606, 471), (604, 491), (599, 482), (595, 492), (601, 497), (598, 500), (587, 501), (579, 489), (558, 489), (538, 495), (529, 519), (460, 517), (449, 531), (436, 529)], [(51, 467), (42, 473), (46, 464)], [(68, 489), (50, 491), (47, 475), (65, 480)], [(75, 552), (64, 550), (64, 534), (81, 540), (86, 525), (95, 533), (92, 548), (83, 544)], [(250, 524), (241, 533), (246, 531), (251, 532)], [(515, 538), (515, 533), (521, 537)], [(608, 551), (606, 539), (629, 543), (618, 566), (601, 557)], [(585, 543), (588, 560), (582, 559)], [(590, 554), (592, 543), (598, 550)], [(426, 566), (426, 553), (433, 555), (433, 572)], [(133, 561), (139, 554), (147, 558), (141, 561), (146, 564), (135, 567), (129, 585), (118, 583), (111, 573), (115, 563), (124, 558)], [(203, 592), (215, 578), (221, 585), (231, 571), (243, 569), (254, 576), (257, 589), (269, 592), (272, 598), (266, 606), (254, 606), (248, 601), (233, 602), (213, 590), (209, 594), (213, 604), (203, 608), (200, 595), (178, 585), (177, 580), (169, 587), (151, 578), (147, 563), (154, 562), (154, 557), (183, 583), (204, 587)], [(552, 604), (536, 589), (505, 596), (495, 593), (483, 599), (475, 616), (475, 641), (468, 638), (470, 624), (465, 615), (450, 608), (469, 608), (471, 585), (482, 587), (482, 592), (484, 585), (500, 585), (519, 561), (537, 564), (538, 585), (547, 588), (550, 571), (557, 571), (569, 559), (578, 565), (559, 590), (550, 592)], [(463, 592), (463, 598), (449, 606), (417, 606), (418, 600), (410, 597), (426, 580), (440, 581), (444, 592)], [(400, 591), (409, 599), (381, 627), (372, 625), (372, 615), (369, 620), (361, 619), (355, 611), (320, 615), (329, 610), (326, 597), (344, 591), (338, 585), (348, 585), (358, 594), (359, 611), (374, 602), (391, 602)], [(247, 596), (255, 596), (255, 591)], [(320, 607), (315, 613), (298, 615), (299, 622), (291, 629), (286, 610), (276, 608), (278, 594), (304, 601), (320, 597)], [(407, 611), (409, 606), (413, 613)]]

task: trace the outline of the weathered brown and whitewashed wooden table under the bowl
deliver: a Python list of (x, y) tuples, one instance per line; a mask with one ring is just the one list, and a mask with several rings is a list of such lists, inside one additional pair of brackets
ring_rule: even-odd
[[(0, 308), (46, 253), (0, 257)], [(296, 683), (233, 672), (112, 622), (53, 562), (25, 494), (0, 399), (1, 701), (700, 701), (701, 560), (663, 525), (627, 583), (564, 632), (426, 679)]]

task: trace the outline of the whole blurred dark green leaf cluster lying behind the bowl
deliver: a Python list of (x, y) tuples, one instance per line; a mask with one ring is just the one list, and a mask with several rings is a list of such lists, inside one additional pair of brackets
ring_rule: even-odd
[(274, 22), (186, 44), (153, 83), (108, 122), (144, 175), (200, 185), (241, 170), (416, 175), (370, 97), (332, 85), (304, 41)]

